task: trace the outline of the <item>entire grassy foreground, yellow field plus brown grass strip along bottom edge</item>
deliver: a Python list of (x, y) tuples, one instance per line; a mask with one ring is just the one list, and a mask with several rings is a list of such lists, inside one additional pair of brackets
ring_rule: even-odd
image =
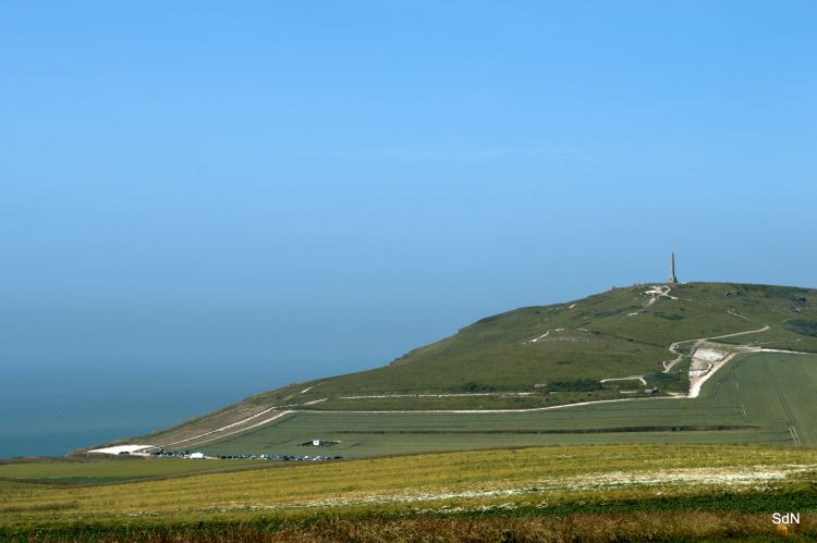
[(786, 511), (812, 539), (816, 491), (817, 451), (748, 445), (478, 451), (82, 486), (10, 478), (0, 540), (768, 541), (771, 514)]

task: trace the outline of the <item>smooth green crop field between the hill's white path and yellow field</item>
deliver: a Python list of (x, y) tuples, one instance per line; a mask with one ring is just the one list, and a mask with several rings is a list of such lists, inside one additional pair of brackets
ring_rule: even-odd
[[(199, 448), (214, 455), (363, 457), (584, 443), (815, 446), (816, 385), (817, 356), (748, 354), (710, 378), (695, 399), (645, 398), (523, 412), (296, 411)], [(302, 446), (316, 439), (339, 443)]]

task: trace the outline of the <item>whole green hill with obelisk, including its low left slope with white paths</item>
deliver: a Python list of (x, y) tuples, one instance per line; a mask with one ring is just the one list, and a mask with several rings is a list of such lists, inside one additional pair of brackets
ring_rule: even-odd
[[(269, 391), (143, 436), (184, 447), (284, 411), (531, 409), (685, 396), (698, 348), (817, 353), (817, 291), (637, 284), (487, 317), (388, 366)], [(694, 373), (694, 372), (693, 372)]]

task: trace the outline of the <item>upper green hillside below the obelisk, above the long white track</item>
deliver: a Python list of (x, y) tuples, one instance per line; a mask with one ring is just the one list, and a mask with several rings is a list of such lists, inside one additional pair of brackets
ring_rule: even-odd
[[(668, 295), (646, 294), (655, 292), (653, 285), (635, 285), (582, 300), (515, 309), (481, 319), (386, 367), (249, 399), (305, 403), (328, 398), (313, 408), (332, 408), (344, 396), (540, 388), (593, 392), (587, 381), (631, 375), (644, 375), (663, 388), (683, 392), (687, 387), (683, 365), (663, 373), (661, 362), (675, 358), (668, 350), (671, 344), (764, 325), (769, 325), (769, 331), (722, 342), (817, 353), (815, 291), (690, 283), (672, 285)], [(310, 385), (314, 387), (301, 394)], [(344, 406), (349, 404), (346, 400)]]

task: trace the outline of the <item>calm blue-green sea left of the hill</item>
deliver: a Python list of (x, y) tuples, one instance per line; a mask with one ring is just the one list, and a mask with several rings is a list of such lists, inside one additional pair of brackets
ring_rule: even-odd
[[(0, 457), (61, 456), (144, 434), (285, 383), (230, 368), (3, 368)], [(225, 374), (227, 373), (227, 374)]]

